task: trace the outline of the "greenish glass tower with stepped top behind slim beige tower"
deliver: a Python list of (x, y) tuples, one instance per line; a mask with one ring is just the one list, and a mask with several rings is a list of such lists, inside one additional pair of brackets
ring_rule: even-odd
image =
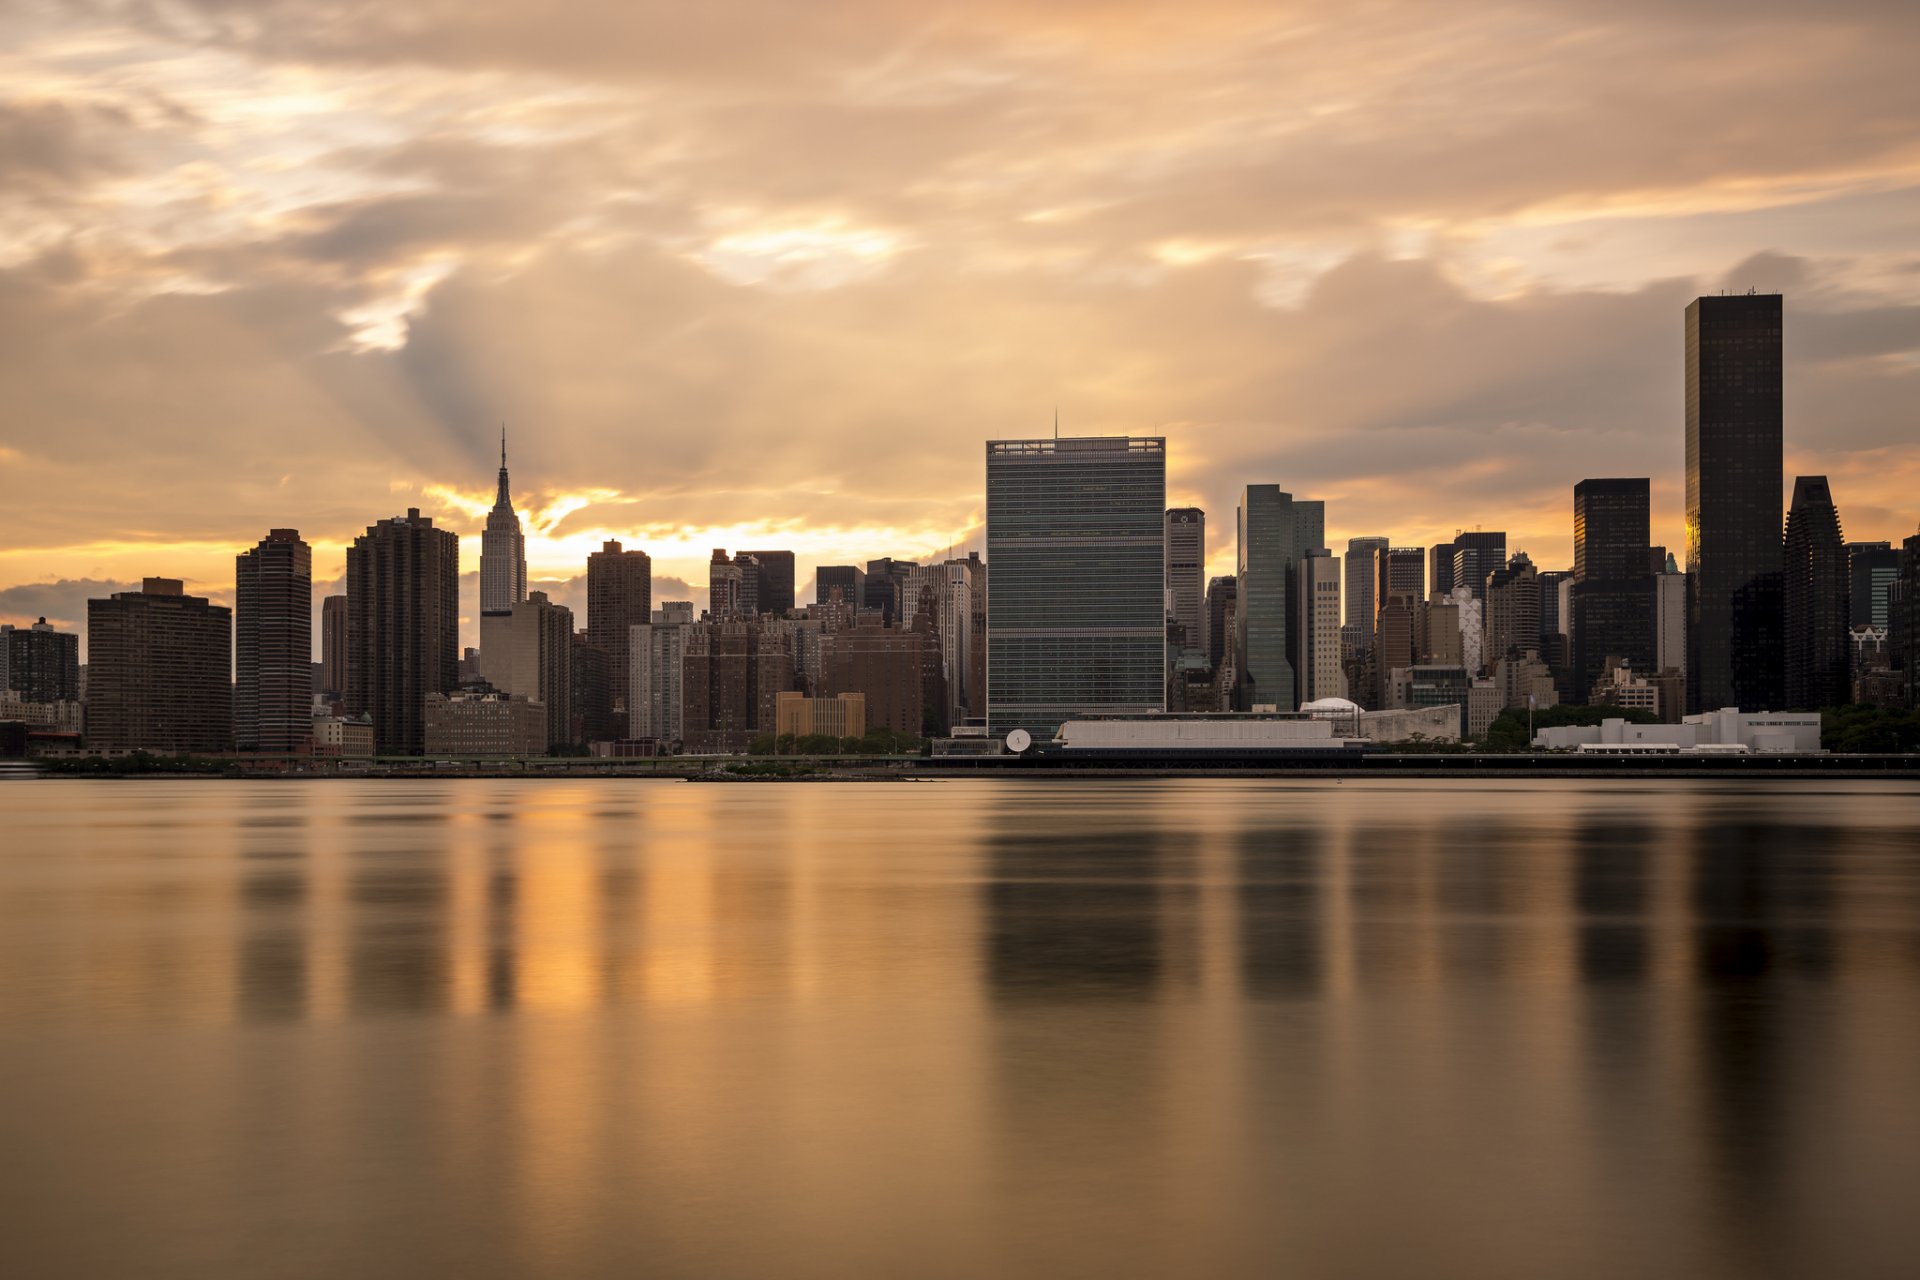
[(1300, 706), (1300, 560), (1327, 541), (1327, 505), (1294, 501), (1277, 484), (1250, 484), (1238, 509), (1238, 618), (1235, 660), (1240, 693), (1235, 706)]

